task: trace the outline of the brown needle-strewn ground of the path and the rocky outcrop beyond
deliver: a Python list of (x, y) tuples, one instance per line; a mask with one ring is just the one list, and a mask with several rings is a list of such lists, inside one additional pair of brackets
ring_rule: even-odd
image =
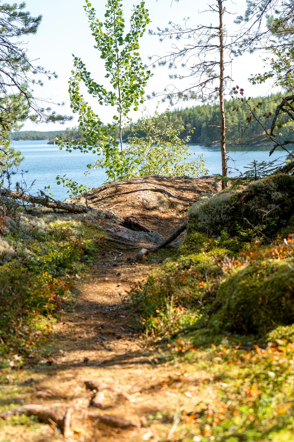
[[(115, 202), (115, 213), (133, 214), (142, 224), (167, 237), (186, 222), (187, 207), (201, 193), (215, 191), (219, 186), (209, 177), (197, 183), (197, 188), (193, 187), (193, 182), (187, 180), (186, 187), (184, 183), (184, 192), (177, 189), (178, 194), (183, 195), (182, 203), (174, 198), (174, 204), (164, 210), (157, 207), (146, 212), (142, 204), (130, 207), (127, 201), (123, 204), (123, 192), (118, 196), (117, 191), (111, 189), (111, 194), (109, 187), (104, 189), (107, 199), (104, 195), (102, 206), (108, 210)], [(146, 183), (142, 184), (144, 188)], [(154, 189), (158, 183), (147, 184)], [(124, 192), (128, 192), (125, 187)], [(92, 196), (94, 194), (98, 196), (95, 190)], [(140, 192), (138, 194), (140, 196)], [(170, 194), (167, 198), (170, 199)], [(136, 251), (123, 250), (122, 253), (115, 244), (105, 243), (89, 274), (75, 283), (71, 311), (65, 312), (54, 325), (50, 343), (52, 356), (36, 365), (32, 361), (31, 366), (20, 370), (2, 370), (5, 381), (0, 386), (1, 405), (8, 408), (18, 404), (55, 407), (57, 402), (58, 409), (72, 407), (74, 433), (67, 440), (166, 441), (184, 440), (185, 434), (190, 435), (186, 440), (200, 440), (197, 436), (193, 439), (197, 432), (191, 432), (186, 425), (179, 438), (179, 415), (192, 411), (194, 405), (201, 402), (201, 397), (205, 398), (205, 403), (215, 397), (212, 373), (204, 369), (205, 363), (191, 366), (177, 358), (170, 360), (168, 347), (159, 348), (152, 344), (152, 339), (135, 331), (134, 312), (125, 302), (130, 289), (145, 281), (166, 253), (150, 254), (142, 264), (136, 264), (131, 261)], [(134, 427), (122, 429), (99, 419), (94, 423), (87, 419), (93, 392), (86, 389), (85, 379), (106, 385), (101, 393), (104, 396), (101, 414), (126, 419)], [(14, 417), (5, 424), (0, 423), (0, 441), (64, 440), (54, 423), (48, 425), (23, 419), (21, 422)]]

